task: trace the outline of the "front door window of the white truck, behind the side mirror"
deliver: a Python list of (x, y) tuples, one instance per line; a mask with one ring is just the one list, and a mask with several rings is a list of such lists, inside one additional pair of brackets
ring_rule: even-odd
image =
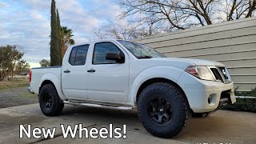
[(117, 63), (114, 60), (106, 59), (107, 53), (117, 53), (122, 54), (122, 51), (119, 50), (118, 46), (115, 46), (112, 42), (99, 42), (94, 46), (94, 58), (93, 64), (114, 64)]

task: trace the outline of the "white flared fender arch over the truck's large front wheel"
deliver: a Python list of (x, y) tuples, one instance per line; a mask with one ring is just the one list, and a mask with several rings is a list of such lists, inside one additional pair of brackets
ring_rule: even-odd
[(147, 80), (152, 78), (166, 78), (177, 84), (178, 78), (183, 72), (184, 70), (175, 66), (153, 66), (143, 70), (134, 78), (134, 82), (130, 86), (127, 103), (135, 107), (138, 89)]

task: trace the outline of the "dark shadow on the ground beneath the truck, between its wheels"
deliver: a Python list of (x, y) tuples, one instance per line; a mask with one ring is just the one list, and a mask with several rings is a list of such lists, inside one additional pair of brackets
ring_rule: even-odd
[(76, 122), (94, 122), (97, 125), (104, 126), (109, 125), (110, 123), (115, 126), (126, 124), (127, 130), (143, 129), (142, 124), (138, 119), (137, 111), (135, 110), (122, 111), (85, 106), (65, 106), (61, 117), (66, 119), (75, 118)]

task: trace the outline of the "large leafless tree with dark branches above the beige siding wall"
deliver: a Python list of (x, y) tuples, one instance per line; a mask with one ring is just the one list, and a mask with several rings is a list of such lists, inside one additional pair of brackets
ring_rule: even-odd
[[(120, 5), (124, 18), (142, 14), (145, 21), (154, 16), (158, 18), (154, 22), (164, 22), (172, 31), (251, 17), (256, 0), (123, 0)], [(222, 18), (223, 12), (226, 19)]]

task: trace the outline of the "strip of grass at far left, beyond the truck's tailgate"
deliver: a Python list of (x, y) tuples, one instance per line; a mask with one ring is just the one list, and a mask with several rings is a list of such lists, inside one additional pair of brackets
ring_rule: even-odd
[(9, 90), (15, 87), (29, 86), (30, 82), (28, 79), (17, 79), (14, 81), (3, 80), (0, 81), (0, 91)]

